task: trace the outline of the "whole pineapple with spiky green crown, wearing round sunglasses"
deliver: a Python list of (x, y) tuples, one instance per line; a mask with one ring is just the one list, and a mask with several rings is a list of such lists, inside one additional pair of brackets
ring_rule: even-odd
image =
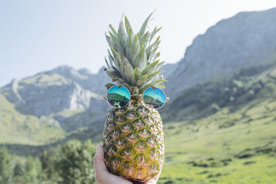
[[(103, 132), (104, 160), (108, 170), (134, 181), (149, 181), (161, 172), (164, 163), (164, 132), (159, 112), (148, 107), (142, 95), (149, 87), (164, 88), (159, 68), (164, 64), (158, 57), (161, 28), (148, 31), (144, 21), (139, 32), (134, 34), (128, 19), (123, 15), (119, 29), (110, 25), (108, 41), (108, 76), (117, 85), (123, 85), (132, 94), (124, 108), (113, 108), (105, 122)], [(112, 83), (106, 84), (109, 89)], [(133, 95), (136, 94), (136, 95)]]

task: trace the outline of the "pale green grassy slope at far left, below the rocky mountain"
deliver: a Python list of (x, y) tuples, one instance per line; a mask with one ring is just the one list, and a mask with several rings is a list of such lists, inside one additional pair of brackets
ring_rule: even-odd
[(54, 119), (21, 114), (0, 94), (0, 143), (42, 145), (64, 138)]

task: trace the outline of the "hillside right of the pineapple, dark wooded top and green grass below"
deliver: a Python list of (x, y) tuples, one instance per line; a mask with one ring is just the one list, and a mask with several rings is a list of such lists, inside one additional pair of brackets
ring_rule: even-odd
[(275, 67), (201, 83), (161, 113), (170, 123), (159, 183), (275, 183)]

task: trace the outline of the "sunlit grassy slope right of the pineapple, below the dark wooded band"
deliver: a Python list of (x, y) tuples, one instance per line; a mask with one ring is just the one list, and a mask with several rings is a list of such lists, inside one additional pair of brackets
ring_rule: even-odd
[(275, 114), (275, 101), (252, 101), (235, 112), (167, 123), (159, 183), (274, 183)]

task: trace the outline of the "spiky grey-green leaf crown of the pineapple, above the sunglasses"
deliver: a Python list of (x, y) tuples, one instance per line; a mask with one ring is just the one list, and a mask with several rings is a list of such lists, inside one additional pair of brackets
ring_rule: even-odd
[[(152, 12), (153, 13), (153, 12)], [(108, 60), (107, 68), (104, 70), (111, 77), (112, 82), (117, 85), (124, 85), (132, 94), (144, 92), (149, 87), (165, 88), (163, 75), (159, 68), (165, 61), (160, 61), (160, 52), (157, 52), (160, 43), (160, 36), (152, 41), (155, 34), (161, 28), (155, 27), (152, 32), (148, 31), (148, 21), (152, 13), (144, 21), (139, 32), (133, 33), (128, 18), (122, 16), (118, 31), (109, 25)], [(111, 88), (113, 83), (106, 84)]]

